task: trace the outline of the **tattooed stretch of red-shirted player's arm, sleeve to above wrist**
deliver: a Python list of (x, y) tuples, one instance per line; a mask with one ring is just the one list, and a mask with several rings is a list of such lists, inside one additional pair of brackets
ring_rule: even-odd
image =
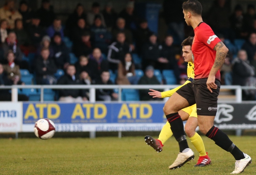
[(218, 42), (216, 46), (214, 47), (214, 50), (216, 51), (216, 58), (213, 65), (213, 68), (221, 69), (225, 58), (227, 56), (227, 52), (229, 51), (228, 48), (222, 43)]

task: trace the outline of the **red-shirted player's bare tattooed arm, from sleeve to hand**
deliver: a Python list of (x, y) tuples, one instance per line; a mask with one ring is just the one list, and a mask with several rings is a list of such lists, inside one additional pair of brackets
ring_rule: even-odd
[(217, 85), (215, 84), (215, 75), (217, 71), (221, 69), (227, 56), (227, 52), (229, 51), (229, 49), (222, 42), (218, 42), (214, 47), (214, 50), (216, 51), (216, 58), (206, 82), (207, 89), (209, 89), (210, 92), (212, 92), (211, 89), (217, 89)]

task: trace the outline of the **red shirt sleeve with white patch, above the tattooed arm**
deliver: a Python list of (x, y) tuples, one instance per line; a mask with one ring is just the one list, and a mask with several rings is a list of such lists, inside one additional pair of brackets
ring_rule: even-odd
[(212, 50), (218, 42), (221, 42), (218, 36), (214, 34), (210, 26), (203, 28), (203, 31), (201, 30), (200, 33), (201, 35), (197, 35), (198, 40), (210, 47)]

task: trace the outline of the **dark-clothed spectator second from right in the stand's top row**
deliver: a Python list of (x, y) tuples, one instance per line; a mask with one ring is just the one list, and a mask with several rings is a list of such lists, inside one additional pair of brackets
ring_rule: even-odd
[(246, 33), (244, 31), (244, 14), (240, 4), (237, 4), (234, 12), (230, 16), (231, 29), (234, 32), (235, 38), (244, 38)]

